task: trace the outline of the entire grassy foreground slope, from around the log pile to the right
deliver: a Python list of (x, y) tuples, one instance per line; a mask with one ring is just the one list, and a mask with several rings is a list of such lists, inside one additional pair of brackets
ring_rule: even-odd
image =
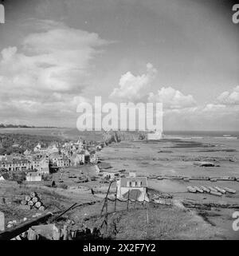
[[(24, 208), (19, 202), (16, 195), (29, 195), (31, 191), (36, 191), (34, 187), (6, 187), (0, 188), (1, 195), (5, 195), (7, 200), (5, 203), (1, 201), (0, 211), (6, 215), (6, 221), (16, 219), (20, 221), (23, 218), (31, 218), (36, 214), (34, 210)], [(4, 191), (3, 191), (4, 190)], [(58, 191), (49, 191), (48, 188), (42, 187), (37, 189), (41, 193), (41, 199), (45, 201), (48, 206), (47, 211), (65, 210), (72, 203), (76, 202), (77, 196), (73, 191), (62, 195)], [(64, 218), (59, 219), (57, 225), (63, 225), (68, 219), (75, 222), (74, 228), (81, 228), (87, 226), (88, 228), (100, 227), (104, 222), (104, 216), (100, 217), (100, 211), (103, 207), (103, 201), (100, 198), (90, 198), (88, 201), (99, 201), (93, 205), (77, 207), (73, 211), (69, 211)], [(77, 203), (85, 203), (82, 196), (78, 197)], [(72, 200), (73, 199), (73, 200)], [(134, 203), (129, 205), (129, 210), (126, 211), (125, 203), (117, 205), (116, 213), (114, 211), (114, 203), (108, 203), (108, 215), (106, 228), (105, 225), (101, 227), (101, 233), (104, 238), (111, 239), (224, 239), (222, 230), (215, 226), (206, 223), (201, 217), (194, 215), (192, 212), (181, 209), (179, 207), (166, 206), (147, 206), (139, 203), (135, 207)], [(147, 217), (148, 216), (148, 217)], [(86, 218), (87, 217), (87, 218)]]

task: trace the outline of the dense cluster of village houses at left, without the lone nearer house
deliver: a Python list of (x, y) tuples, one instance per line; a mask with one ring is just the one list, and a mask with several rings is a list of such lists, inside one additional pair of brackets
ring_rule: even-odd
[(96, 151), (103, 147), (103, 144), (86, 144), (82, 140), (51, 144), (48, 148), (42, 148), (38, 143), (33, 151), (27, 149), (23, 155), (0, 156), (0, 169), (8, 172), (26, 171), (27, 180), (38, 181), (41, 175), (49, 174), (50, 169), (97, 163)]

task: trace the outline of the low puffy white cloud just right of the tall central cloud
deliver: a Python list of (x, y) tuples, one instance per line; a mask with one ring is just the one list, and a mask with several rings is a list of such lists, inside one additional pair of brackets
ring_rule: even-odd
[(158, 93), (150, 93), (148, 96), (150, 102), (162, 102), (163, 108), (192, 108), (196, 105), (194, 97), (184, 95), (172, 87), (163, 87)]

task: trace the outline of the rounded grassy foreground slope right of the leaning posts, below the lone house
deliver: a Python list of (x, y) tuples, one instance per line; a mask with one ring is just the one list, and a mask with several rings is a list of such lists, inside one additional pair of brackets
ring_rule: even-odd
[[(102, 218), (91, 223), (100, 226)], [(90, 223), (88, 223), (90, 225)], [(131, 209), (108, 216), (104, 236), (113, 239), (226, 239), (223, 230), (178, 207)]]

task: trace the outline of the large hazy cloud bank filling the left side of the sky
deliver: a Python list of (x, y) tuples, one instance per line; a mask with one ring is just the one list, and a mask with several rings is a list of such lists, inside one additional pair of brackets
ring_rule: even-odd
[[(19, 47), (0, 54), (0, 109), (24, 113), (64, 109), (76, 113), (77, 97), (88, 85), (91, 60), (108, 44), (97, 33), (72, 29), (63, 23), (37, 21)], [(41, 25), (41, 26), (40, 26)]]

